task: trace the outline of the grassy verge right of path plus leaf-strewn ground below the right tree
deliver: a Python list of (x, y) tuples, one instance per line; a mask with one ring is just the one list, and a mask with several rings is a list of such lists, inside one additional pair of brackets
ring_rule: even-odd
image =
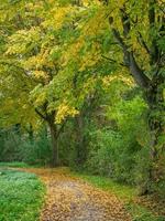
[(110, 178), (74, 173), (89, 183), (106, 191), (113, 192), (124, 203), (133, 221), (165, 221), (165, 199), (156, 194), (138, 197), (138, 189), (114, 182)]

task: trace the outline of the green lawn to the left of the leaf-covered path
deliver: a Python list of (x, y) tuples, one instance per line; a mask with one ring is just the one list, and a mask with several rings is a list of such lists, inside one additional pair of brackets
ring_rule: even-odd
[(0, 221), (37, 221), (44, 192), (35, 175), (1, 168)]

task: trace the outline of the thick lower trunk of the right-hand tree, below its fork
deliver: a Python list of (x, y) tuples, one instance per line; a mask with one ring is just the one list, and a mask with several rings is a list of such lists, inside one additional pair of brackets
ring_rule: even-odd
[(148, 180), (142, 189), (142, 194), (154, 192), (156, 186), (163, 178), (164, 171), (160, 167), (161, 156), (165, 150), (165, 144), (160, 143), (160, 137), (164, 135), (164, 96), (163, 96), (164, 77), (158, 75), (153, 80), (152, 86), (147, 91), (148, 103), (148, 128), (151, 133), (150, 140), (150, 168)]

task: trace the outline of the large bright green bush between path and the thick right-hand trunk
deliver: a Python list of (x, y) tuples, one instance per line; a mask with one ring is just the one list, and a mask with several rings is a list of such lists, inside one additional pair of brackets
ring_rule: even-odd
[[(143, 119), (145, 105), (140, 97), (121, 101), (108, 109), (117, 128), (103, 127), (90, 131), (89, 155), (86, 169), (92, 173), (111, 177), (134, 185), (142, 180), (148, 167), (147, 130)], [(143, 133), (143, 134), (142, 134)], [(143, 146), (144, 145), (144, 146)], [(145, 155), (144, 152), (145, 151)], [(148, 160), (147, 160), (148, 161)]]

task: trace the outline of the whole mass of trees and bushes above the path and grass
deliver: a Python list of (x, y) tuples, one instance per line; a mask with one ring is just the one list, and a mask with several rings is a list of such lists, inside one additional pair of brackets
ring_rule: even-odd
[(164, 0), (0, 0), (0, 164), (13, 161), (165, 200)]

